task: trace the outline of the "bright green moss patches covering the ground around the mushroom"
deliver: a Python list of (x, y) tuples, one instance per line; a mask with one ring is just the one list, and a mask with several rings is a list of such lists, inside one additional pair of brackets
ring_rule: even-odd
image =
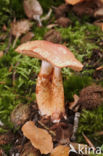
[[(40, 2), (45, 13), (52, 5), (58, 6), (63, 1), (40, 0)], [(2, 26), (6, 24), (7, 32), (5, 33), (8, 36), (0, 42), (0, 51), (5, 51), (8, 47), (10, 23), (15, 16), (17, 19), (25, 18), (21, 0), (0, 0), (0, 34), (4, 33)], [(102, 77), (99, 79), (93, 77), (95, 72), (93, 64), (89, 65), (85, 61), (85, 58), (92, 60), (95, 49), (103, 52), (103, 45), (100, 44), (103, 42), (103, 32), (91, 24), (91, 19), (88, 17), (78, 19), (73, 13), (68, 13), (68, 17), (73, 22), (71, 26), (67, 28), (56, 27), (55, 29), (61, 33), (63, 43), (65, 42), (75, 56), (85, 64), (80, 73), (73, 72), (68, 68), (62, 70), (65, 100), (72, 101), (73, 95), (75, 93), (79, 95), (80, 90), (89, 84), (97, 83), (103, 86)], [(52, 13), (52, 18), (54, 18), (54, 13)], [(33, 39), (43, 39), (44, 34), (48, 31), (47, 24), (48, 22), (44, 22), (43, 27), (39, 28), (34, 22), (32, 32), (35, 37)], [(17, 42), (17, 45), (19, 44), (20, 40)], [(98, 65), (102, 64), (100, 60)], [(4, 128), (0, 128), (0, 133), (13, 128), (10, 122), (10, 114), (17, 104), (34, 103), (36, 78), (39, 70), (40, 61), (38, 59), (17, 54), (12, 45), (0, 58), (0, 120), (5, 124)], [(103, 106), (93, 111), (84, 110), (82, 112), (77, 142), (85, 143), (81, 135), (84, 132), (94, 145), (103, 146), (103, 136), (95, 136), (97, 131), (103, 131)]]

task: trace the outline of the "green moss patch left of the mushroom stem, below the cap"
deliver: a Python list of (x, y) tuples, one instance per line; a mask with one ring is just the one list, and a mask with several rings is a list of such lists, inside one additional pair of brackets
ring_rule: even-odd
[(4, 82), (0, 85), (0, 120), (8, 127), (11, 127), (10, 113), (17, 104), (34, 102), (39, 69), (40, 63), (37, 59), (21, 56), (14, 51), (9, 51), (0, 59), (0, 82)]

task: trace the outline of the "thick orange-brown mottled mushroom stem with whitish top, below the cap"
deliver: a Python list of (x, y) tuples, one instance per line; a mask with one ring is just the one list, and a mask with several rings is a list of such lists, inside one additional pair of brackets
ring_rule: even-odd
[(64, 114), (64, 90), (61, 69), (42, 61), (36, 86), (37, 104), (42, 115), (59, 121)]

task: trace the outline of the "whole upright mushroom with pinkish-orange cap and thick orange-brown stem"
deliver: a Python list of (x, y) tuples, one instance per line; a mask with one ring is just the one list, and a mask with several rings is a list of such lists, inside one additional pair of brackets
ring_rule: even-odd
[(42, 60), (36, 85), (37, 104), (41, 115), (51, 116), (53, 122), (59, 121), (65, 116), (61, 68), (81, 71), (83, 65), (64, 45), (45, 40), (29, 41), (16, 51)]

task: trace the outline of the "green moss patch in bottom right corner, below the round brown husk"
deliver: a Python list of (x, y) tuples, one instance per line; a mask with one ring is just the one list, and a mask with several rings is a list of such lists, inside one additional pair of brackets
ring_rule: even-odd
[(94, 143), (95, 146), (101, 146), (103, 136), (96, 136), (95, 133), (103, 129), (103, 105), (93, 111), (83, 110), (80, 117), (78, 129), (78, 142), (84, 142), (82, 133)]

